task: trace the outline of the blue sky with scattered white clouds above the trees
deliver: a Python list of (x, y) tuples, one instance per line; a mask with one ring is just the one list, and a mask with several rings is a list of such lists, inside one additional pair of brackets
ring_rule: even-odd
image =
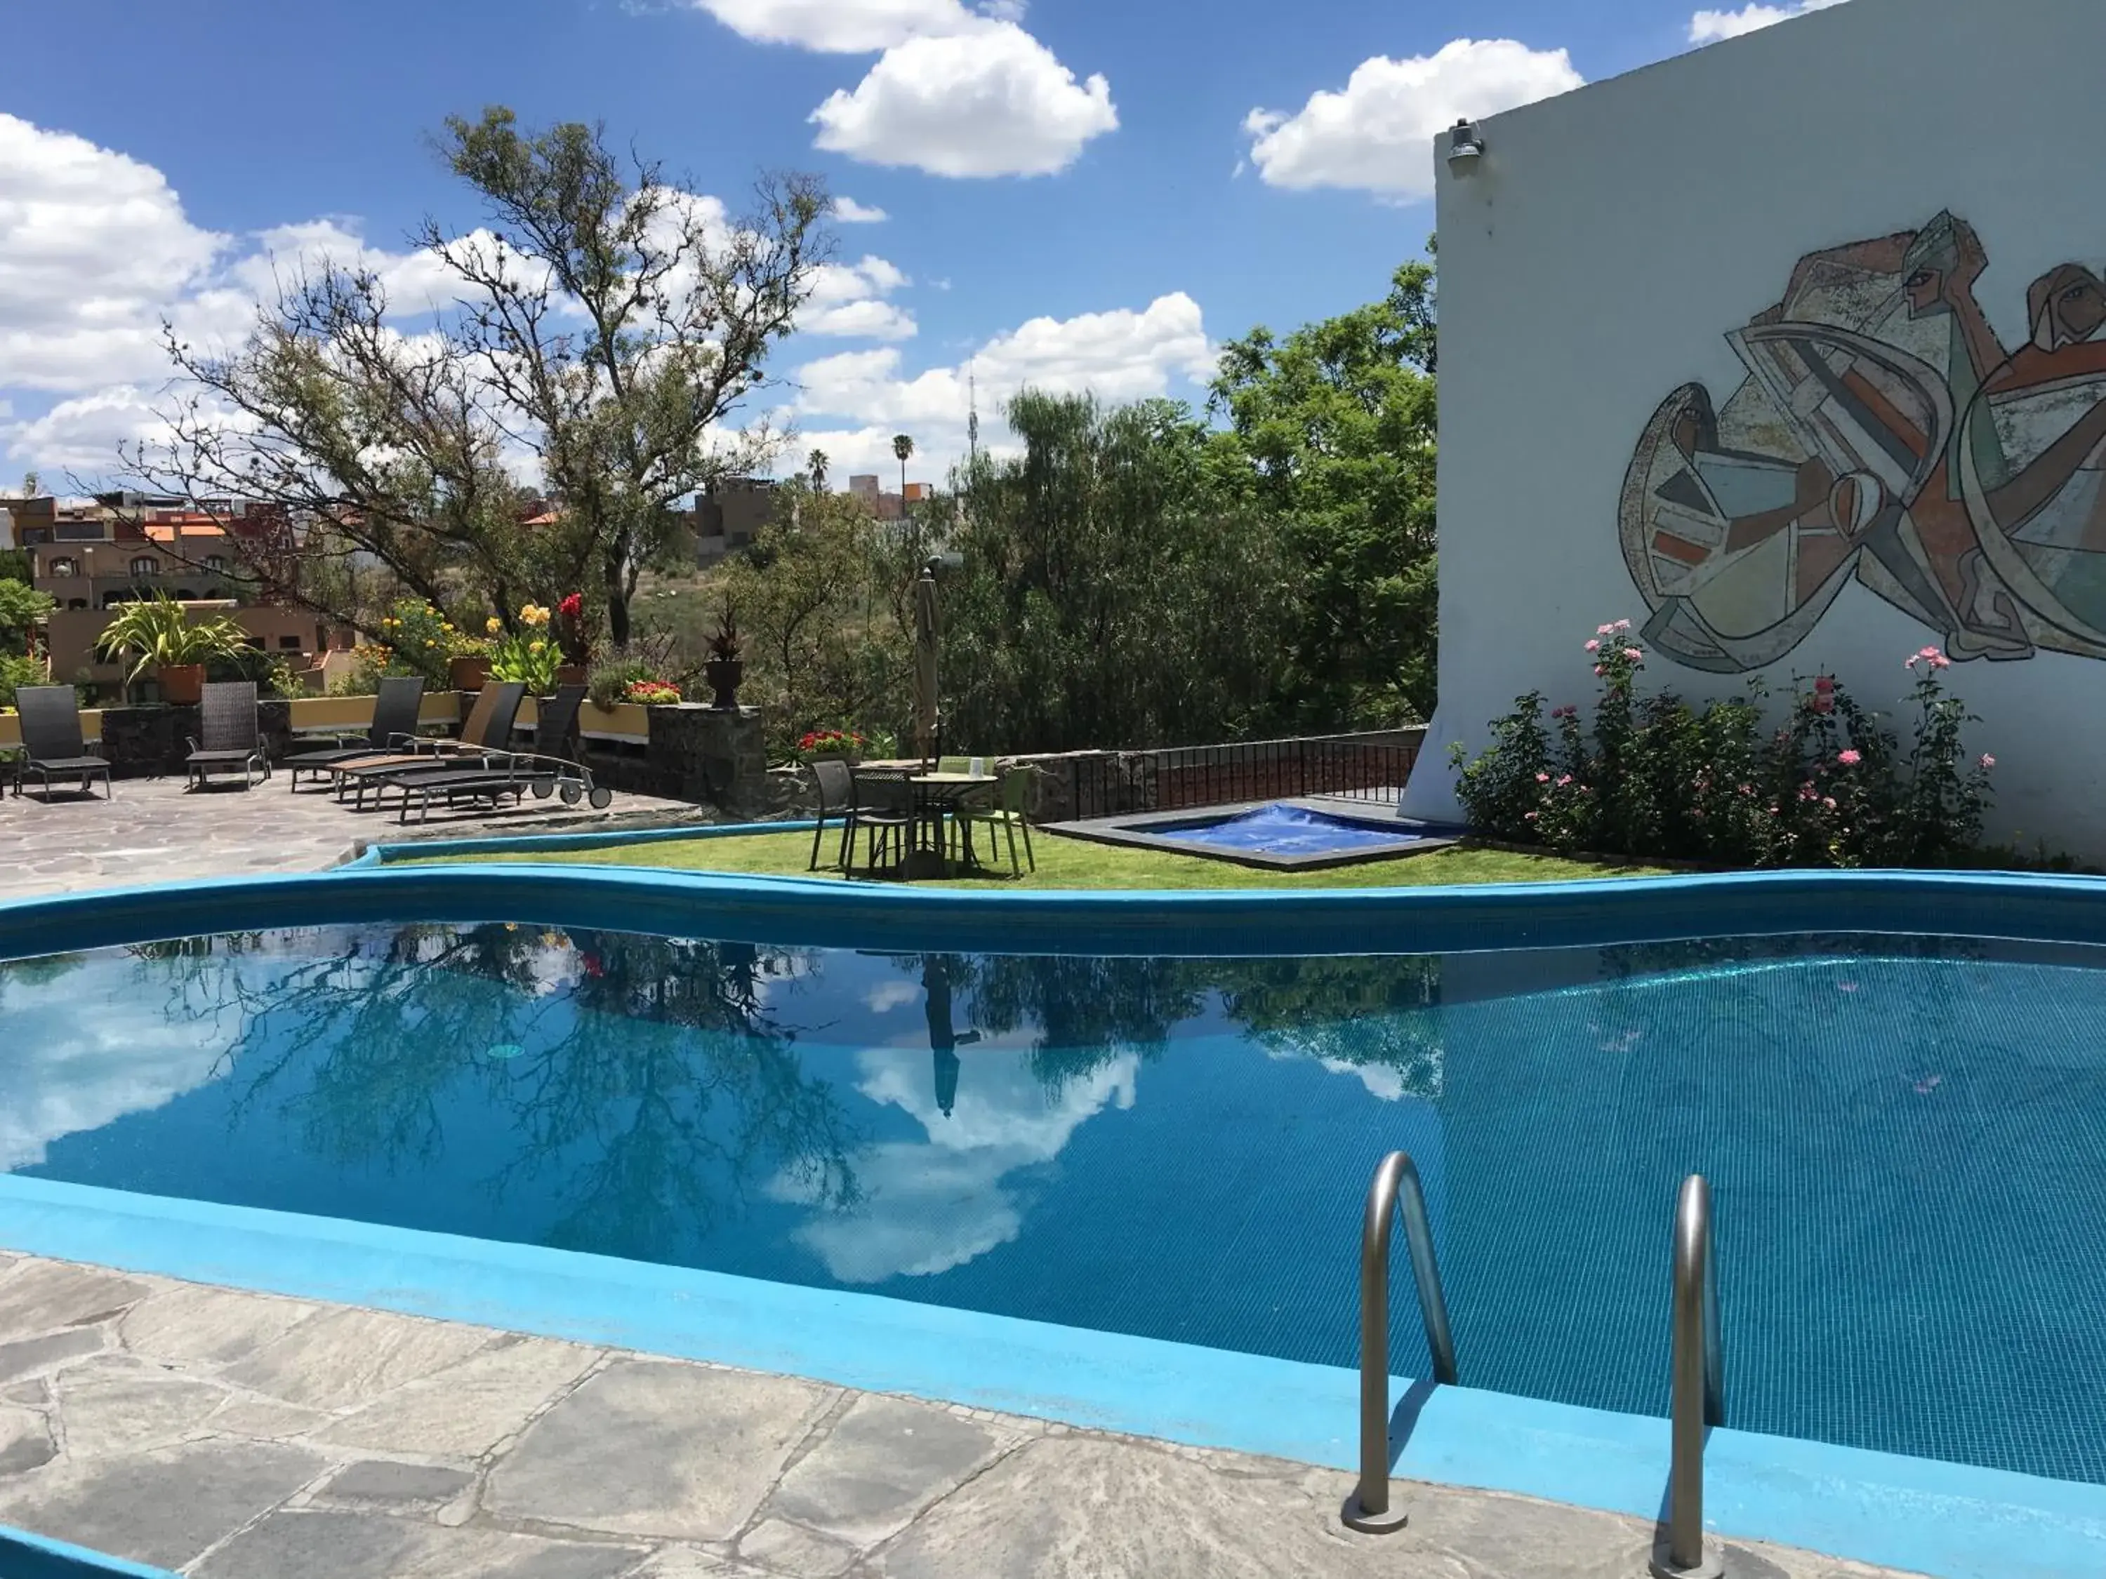
[(1375, 299), (1419, 253), (1436, 126), (1822, 2), (19, 6), (0, 478), (110, 478), (164, 398), (160, 318), (236, 337), (274, 255), (364, 248), (404, 291), (428, 280), (406, 232), (478, 215), (423, 137), (484, 103), (604, 120), (733, 211), (771, 166), (882, 213), (838, 225), (840, 267), (754, 415), (836, 476), (906, 429), (914, 474), (939, 476), (969, 358), (994, 434), (1021, 381), (1198, 398), (1221, 339)]

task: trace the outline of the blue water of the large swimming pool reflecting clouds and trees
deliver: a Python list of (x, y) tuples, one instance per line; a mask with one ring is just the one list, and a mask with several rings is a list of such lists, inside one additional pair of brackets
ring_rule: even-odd
[(1651, 1415), (1702, 1171), (1731, 1425), (2106, 1480), (2102, 964), (251, 933), (0, 966), (0, 1168), (1348, 1366), (1407, 1147), (1464, 1383)]

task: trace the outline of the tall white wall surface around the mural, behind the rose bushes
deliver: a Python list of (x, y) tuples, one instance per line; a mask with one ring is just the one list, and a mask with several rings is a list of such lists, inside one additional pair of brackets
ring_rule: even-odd
[[(2005, 347), (2032, 280), (2100, 267), (2102, 46), (2102, 0), (1851, 0), (1495, 116), (1468, 177), (1441, 162), (1441, 707), (1407, 813), (1457, 815), (1447, 747), (1478, 749), (1514, 695), (1594, 695), (1582, 642), (1647, 617), (1617, 539), (1641, 432), (1691, 379), (1725, 404), (1746, 377), (1725, 335), (1803, 255), (1950, 211), (1988, 251), (1975, 299)], [(1891, 707), (1902, 659), (1940, 642), (1851, 581), (1767, 676), (1832, 672)], [(2106, 855), (2106, 659), (1948, 678), (1999, 758), (1992, 834)], [(1744, 684), (1664, 655), (1645, 682)]]

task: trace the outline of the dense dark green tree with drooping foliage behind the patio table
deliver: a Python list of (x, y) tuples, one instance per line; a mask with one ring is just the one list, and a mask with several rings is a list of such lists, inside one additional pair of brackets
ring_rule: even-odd
[[(1024, 392), (1024, 440), (960, 474), (943, 589), (946, 737), (986, 752), (1238, 735), (1270, 705), (1293, 566), (1219, 486), (1205, 423), (1171, 400), (1106, 411)], [(1285, 629), (1283, 629), (1285, 627)]]

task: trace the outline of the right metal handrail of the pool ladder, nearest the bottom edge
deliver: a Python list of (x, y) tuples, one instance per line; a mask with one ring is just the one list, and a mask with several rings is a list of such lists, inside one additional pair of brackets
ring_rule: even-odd
[(1674, 1202), (1674, 1358), (1668, 1461), (1668, 1526), (1653, 1552), (1653, 1579), (1718, 1579), (1704, 1550), (1704, 1432), (1725, 1425), (1725, 1352), (1718, 1333), (1718, 1263), (1710, 1248), (1710, 1185), (1683, 1179)]

